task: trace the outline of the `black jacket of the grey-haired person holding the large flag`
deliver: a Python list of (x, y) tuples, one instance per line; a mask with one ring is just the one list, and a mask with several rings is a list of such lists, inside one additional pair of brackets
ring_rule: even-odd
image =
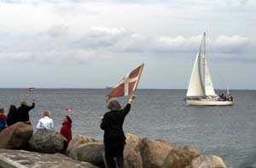
[(124, 109), (112, 110), (103, 116), (101, 128), (104, 130), (105, 148), (113, 148), (125, 145), (125, 133), (123, 123), (129, 113), (131, 104), (126, 104)]

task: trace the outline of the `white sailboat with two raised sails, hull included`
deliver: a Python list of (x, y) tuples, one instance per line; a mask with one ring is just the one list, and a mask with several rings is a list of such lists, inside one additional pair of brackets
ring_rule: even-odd
[[(201, 48), (203, 45), (203, 53)], [(201, 59), (203, 61), (203, 79), (201, 76)], [(186, 95), (186, 101), (189, 105), (231, 105), (233, 98), (220, 98), (212, 85), (212, 78), (207, 62), (206, 54), (206, 33), (201, 41), (199, 52), (195, 58), (194, 68), (190, 76), (189, 87)]]

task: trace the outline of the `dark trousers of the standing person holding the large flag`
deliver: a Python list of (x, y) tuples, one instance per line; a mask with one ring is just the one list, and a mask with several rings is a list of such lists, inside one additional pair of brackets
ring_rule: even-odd
[(116, 168), (116, 165), (118, 165), (119, 168), (124, 167), (124, 146), (125, 145), (119, 145), (113, 148), (105, 148), (105, 157), (108, 168)]

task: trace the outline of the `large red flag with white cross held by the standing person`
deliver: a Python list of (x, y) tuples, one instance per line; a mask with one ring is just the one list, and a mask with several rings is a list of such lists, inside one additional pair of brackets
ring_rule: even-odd
[(127, 96), (136, 91), (137, 84), (143, 71), (144, 64), (127, 74), (108, 94), (108, 99)]

